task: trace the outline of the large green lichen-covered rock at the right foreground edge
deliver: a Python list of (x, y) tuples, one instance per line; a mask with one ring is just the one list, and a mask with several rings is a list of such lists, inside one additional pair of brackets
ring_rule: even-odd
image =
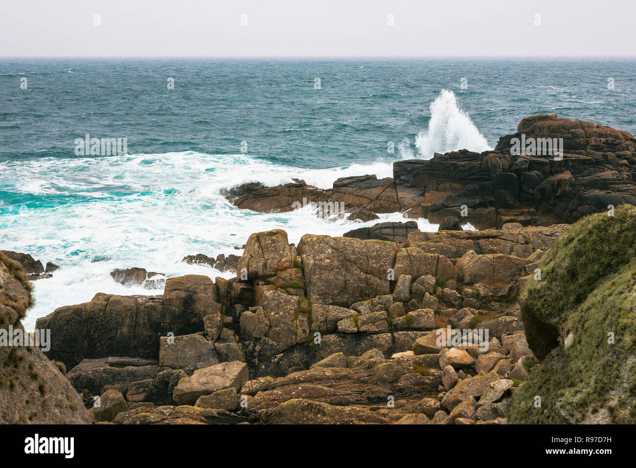
[(577, 222), (546, 254), (522, 301), (543, 362), (515, 393), (511, 423), (636, 422), (635, 245), (636, 208), (623, 205)]

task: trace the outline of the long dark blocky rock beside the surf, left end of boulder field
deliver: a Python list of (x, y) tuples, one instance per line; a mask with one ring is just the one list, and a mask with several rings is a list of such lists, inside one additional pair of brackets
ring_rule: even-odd
[(206, 286), (214, 289), (207, 276), (188, 275), (167, 280), (163, 298), (98, 293), (90, 302), (38, 318), (36, 328), (51, 330), (45, 354), (69, 369), (84, 358), (156, 358), (158, 336), (203, 330), (200, 312), (211, 309), (216, 299)]

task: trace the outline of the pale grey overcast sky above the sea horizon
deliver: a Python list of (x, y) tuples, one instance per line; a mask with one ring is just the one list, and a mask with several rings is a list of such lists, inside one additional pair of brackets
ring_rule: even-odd
[(0, 56), (633, 56), (635, 18), (635, 0), (2, 0)]

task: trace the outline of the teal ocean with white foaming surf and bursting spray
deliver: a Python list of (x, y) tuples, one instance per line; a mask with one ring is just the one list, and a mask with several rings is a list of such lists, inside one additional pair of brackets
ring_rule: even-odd
[[(336, 236), (375, 223), (321, 219), (309, 208), (242, 211), (223, 188), (292, 178), (329, 188), (343, 176), (388, 177), (394, 160), (494, 148), (537, 113), (633, 134), (635, 65), (0, 59), (0, 250), (61, 267), (34, 282), (25, 328), (97, 292), (162, 294), (116, 283), (109, 274), (116, 268), (228, 278), (181, 259), (240, 255), (235, 247), (261, 230), (285, 229), (298, 243), (306, 233)], [(125, 138), (127, 153), (78, 155), (76, 139), (86, 134)], [(424, 219), (418, 225), (437, 229)]]

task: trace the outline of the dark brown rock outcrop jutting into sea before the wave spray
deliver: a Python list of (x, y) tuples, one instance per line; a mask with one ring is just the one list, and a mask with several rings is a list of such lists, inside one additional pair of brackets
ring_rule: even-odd
[[(515, 138), (536, 141), (535, 155), (527, 148), (516, 152)], [(555, 158), (544, 144), (555, 138), (557, 143), (563, 139), (562, 157)], [(492, 151), (396, 161), (392, 178), (342, 178), (328, 190), (302, 180), (279, 187), (252, 184), (228, 193), (228, 200), (254, 211), (291, 211), (303, 199), (342, 203), (348, 213), (401, 211), (433, 223), (452, 216), (460, 224), (487, 229), (511, 222), (572, 223), (609, 205), (636, 204), (635, 180), (631, 134), (550, 114), (524, 118), (517, 132), (502, 136)]]

